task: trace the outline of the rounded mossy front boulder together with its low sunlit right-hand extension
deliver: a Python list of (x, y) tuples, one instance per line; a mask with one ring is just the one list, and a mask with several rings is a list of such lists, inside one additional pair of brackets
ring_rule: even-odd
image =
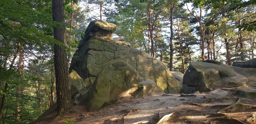
[(162, 95), (163, 90), (153, 81), (141, 78), (139, 73), (128, 63), (117, 61), (104, 67), (88, 91), (85, 103), (89, 111), (102, 107), (118, 97), (138, 97), (148, 95)]

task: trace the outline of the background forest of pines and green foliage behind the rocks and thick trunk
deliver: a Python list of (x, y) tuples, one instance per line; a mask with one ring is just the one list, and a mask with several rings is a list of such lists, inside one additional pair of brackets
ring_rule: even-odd
[[(115, 37), (170, 71), (255, 58), (254, 0), (64, 0), (64, 24), (53, 21), (52, 3), (0, 1), (1, 123), (32, 122), (56, 102), (54, 45), (67, 50), (69, 65), (91, 20), (116, 24)], [(53, 27), (66, 27), (66, 44), (54, 39)]]

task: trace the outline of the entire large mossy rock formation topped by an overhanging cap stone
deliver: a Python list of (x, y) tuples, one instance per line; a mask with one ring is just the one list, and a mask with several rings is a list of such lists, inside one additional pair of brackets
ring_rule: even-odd
[(72, 58), (70, 72), (77, 72), (87, 89), (75, 88), (79, 94), (73, 97), (74, 103), (93, 111), (118, 97), (179, 93), (181, 82), (168, 68), (147, 53), (120, 41), (123, 39), (112, 40), (115, 29), (114, 24), (104, 21), (92, 21), (86, 29)]

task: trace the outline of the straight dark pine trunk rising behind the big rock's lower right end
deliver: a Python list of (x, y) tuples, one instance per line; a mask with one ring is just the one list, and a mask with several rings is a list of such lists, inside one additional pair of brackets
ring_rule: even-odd
[(171, 30), (171, 37), (170, 37), (170, 71), (173, 71), (173, 8), (174, 8), (174, 3), (171, 5), (171, 16), (170, 16), (170, 30)]

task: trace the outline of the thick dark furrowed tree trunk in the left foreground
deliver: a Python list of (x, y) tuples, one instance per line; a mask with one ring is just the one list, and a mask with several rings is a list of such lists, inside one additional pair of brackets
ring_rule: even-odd
[[(53, 0), (53, 21), (65, 23), (64, 2), (63, 0)], [(53, 28), (54, 39), (67, 44), (66, 42), (66, 27)], [(67, 51), (62, 46), (54, 45), (54, 65), (56, 75), (56, 90), (57, 90), (57, 109), (58, 115), (62, 115), (71, 106), (69, 67), (67, 59)]]

